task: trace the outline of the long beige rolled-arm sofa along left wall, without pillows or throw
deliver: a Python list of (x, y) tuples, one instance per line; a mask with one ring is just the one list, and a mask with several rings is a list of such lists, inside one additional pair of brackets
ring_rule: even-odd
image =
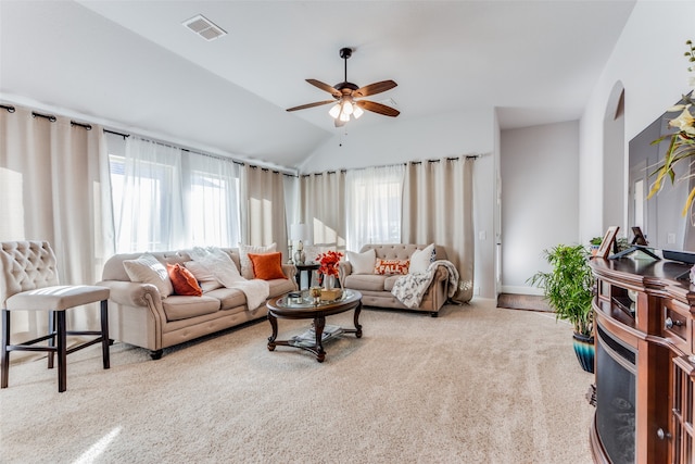
[[(237, 249), (223, 249), (240, 268)], [(111, 338), (151, 350), (160, 359), (164, 348), (213, 334), (266, 316), (265, 303), (247, 308), (244, 293), (236, 288), (206, 289), (201, 297), (172, 294), (162, 299), (157, 287), (132, 283), (123, 265), (142, 253), (116, 254), (104, 264), (100, 286), (111, 289), (109, 298), (109, 335)], [(191, 261), (189, 251), (152, 252), (161, 263)], [(296, 290), (293, 265), (283, 264), (287, 279), (268, 280), (269, 298)], [(214, 285), (207, 288), (215, 287)]]

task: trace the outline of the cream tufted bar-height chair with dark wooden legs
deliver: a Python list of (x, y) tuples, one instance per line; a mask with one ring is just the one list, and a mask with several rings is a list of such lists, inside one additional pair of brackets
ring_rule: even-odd
[[(101, 342), (103, 367), (109, 360), (110, 290), (105, 287), (61, 286), (58, 279), (55, 253), (47, 241), (0, 242), (0, 309), (2, 309), (2, 352), (0, 354), (0, 388), (8, 387), (10, 352), (46, 351), (48, 367), (53, 367), (58, 354), (58, 391), (66, 389), (66, 356), (83, 348)], [(83, 304), (101, 302), (101, 330), (68, 331), (65, 311)], [(10, 342), (10, 313), (12, 311), (48, 311), (49, 334), (20, 344)], [(67, 336), (96, 336), (96, 338), (67, 350)], [(48, 340), (48, 346), (40, 344)]]

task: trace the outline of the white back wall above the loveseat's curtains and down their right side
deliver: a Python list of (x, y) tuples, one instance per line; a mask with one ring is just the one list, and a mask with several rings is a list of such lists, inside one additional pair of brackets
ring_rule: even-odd
[[(380, 117), (370, 115), (372, 117)], [(364, 116), (363, 116), (364, 117)], [(476, 296), (495, 298), (495, 186), (497, 125), (491, 108), (435, 116), (384, 121), (375, 126), (345, 126), (316, 149), (301, 173), (380, 166), (462, 154), (483, 154), (476, 161)], [(342, 146), (341, 146), (342, 145)], [(484, 239), (480, 239), (481, 234)]]

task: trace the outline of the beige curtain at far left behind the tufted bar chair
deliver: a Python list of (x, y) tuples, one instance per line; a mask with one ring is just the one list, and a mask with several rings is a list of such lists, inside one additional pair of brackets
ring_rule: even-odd
[[(47, 240), (62, 284), (94, 284), (113, 253), (111, 204), (103, 202), (109, 190), (103, 130), (52, 117), (0, 109), (0, 241)], [(71, 311), (68, 325), (97, 329), (98, 314), (92, 305)], [(47, 314), (16, 312), (12, 341), (35, 338), (46, 328)]]

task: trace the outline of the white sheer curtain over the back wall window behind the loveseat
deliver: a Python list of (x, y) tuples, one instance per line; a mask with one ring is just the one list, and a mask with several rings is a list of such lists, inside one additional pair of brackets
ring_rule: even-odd
[(348, 250), (401, 241), (405, 165), (351, 170), (345, 175)]

